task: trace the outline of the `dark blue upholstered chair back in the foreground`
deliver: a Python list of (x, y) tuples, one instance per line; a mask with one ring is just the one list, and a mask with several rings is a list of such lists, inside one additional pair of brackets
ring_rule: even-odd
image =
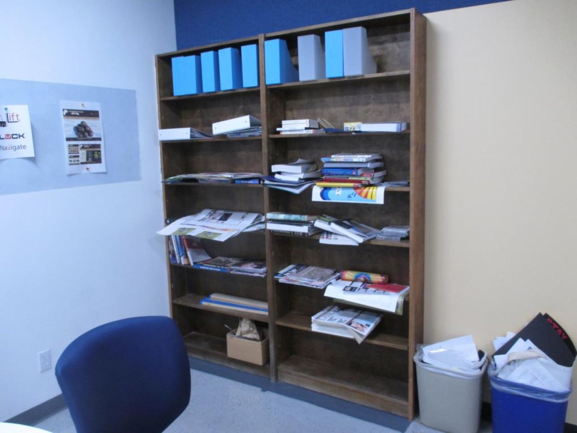
[(56, 377), (78, 433), (159, 433), (190, 400), (186, 349), (163, 316), (80, 335), (62, 353)]

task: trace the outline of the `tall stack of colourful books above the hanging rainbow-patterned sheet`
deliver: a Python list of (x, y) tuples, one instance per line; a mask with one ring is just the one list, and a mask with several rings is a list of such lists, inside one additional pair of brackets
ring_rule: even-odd
[(378, 154), (335, 154), (321, 159), (323, 179), (317, 186), (360, 188), (380, 184), (387, 171)]

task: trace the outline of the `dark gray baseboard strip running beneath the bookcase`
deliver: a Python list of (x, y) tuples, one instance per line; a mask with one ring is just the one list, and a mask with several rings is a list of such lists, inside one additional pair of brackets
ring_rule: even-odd
[(401, 416), (351, 403), (350, 401), (341, 400), (330, 395), (310, 391), (300, 386), (271, 382), (269, 378), (253, 375), (230, 367), (224, 367), (224, 365), (214, 364), (209, 361), (196, 358), (189, 358), (189, 360), (190, 368), (195, 370), (246, 383), (247, 385), (257, 386), (263, 391), (270, 391), (271, 393), (282, 394), (295, 400), (306, 401), (321, 408), (344, 413), (344, 415), (383, 425), (393, 430), (404, 432), (410, 424), (409, 420)]

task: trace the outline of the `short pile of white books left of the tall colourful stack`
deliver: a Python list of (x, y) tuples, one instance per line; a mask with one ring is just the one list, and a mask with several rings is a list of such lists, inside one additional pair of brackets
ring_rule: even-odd
[(317, 170), (317, 165), (312, 159), (299, 158), (287, 164), (274, 164), (271, 171), (275, 173), (274, 176), (263, 176), (266, 186), (295, 194), (305, 191), (321, 176), (321, 171)]

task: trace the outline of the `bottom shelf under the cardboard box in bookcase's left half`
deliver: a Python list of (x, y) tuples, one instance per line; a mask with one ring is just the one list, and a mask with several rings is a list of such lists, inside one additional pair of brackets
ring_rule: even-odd
[(271, 375), (270, 364), (255, 365), (227, 357), (225, 338), (196, 332), (185, 335), (183, 338), (186, 350), (194, 357), (259, 376), (268, 377)]

